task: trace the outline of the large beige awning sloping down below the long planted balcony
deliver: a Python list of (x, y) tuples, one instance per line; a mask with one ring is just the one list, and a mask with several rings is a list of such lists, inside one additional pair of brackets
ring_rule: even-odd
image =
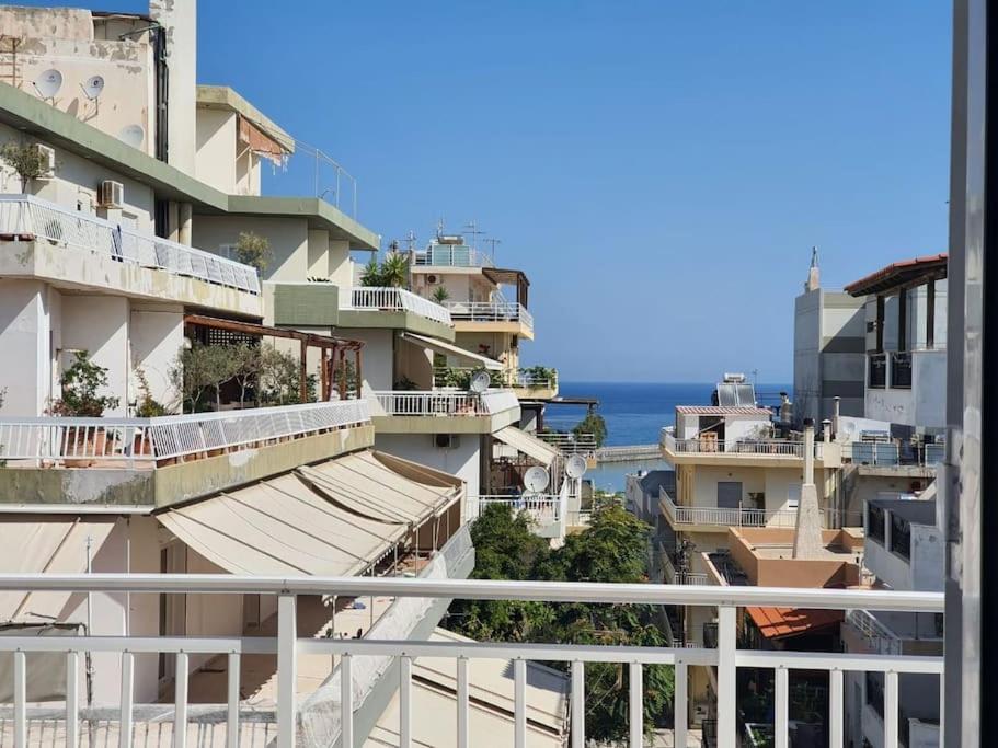
[[(438, 484), (444, 481), (437, 475)], [(370, 452), (300, 468), (157, 515), (208, 561), (233, 574), (352, 576), (460, 495), (431, 487)], [(457, 485), (455, 485), (455, 483)]]

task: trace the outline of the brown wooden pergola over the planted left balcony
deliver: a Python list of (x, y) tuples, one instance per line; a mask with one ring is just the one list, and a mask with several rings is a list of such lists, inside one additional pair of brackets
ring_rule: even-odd
[[(240, 320), (225, 320), (218, 317), (206, 317), (204, 314), (184, 314), (184, 324), (194, 327), (207, 327), (209, 330), (223, 330), (230, 333), (240, 333), (252, 335), (254, 337), (282, 337), (285, 340), (298, 341), (300, 347), (299, 355), (299, 396), (301, 402), (308, 399), (308, 349), (318, 348), (320, 356), (319, 366), (319, 389), (320, 399), (325, 401), (332, 395), (334, 383), (334, 372), (339, 371), (340, 398), (346, 400), (346, 356), (348, 352), (354, 354), (355, 385), (357, 398), (360, 398), (360, 349), (364, 347), (363, 341), (354, 341), (346, 337), (335, 337), (332, 335), (318, 335), (316, 333), (305, 333), (300, 330), (290, 330), (287, 327), (272, 327), (255, 322), (242, 322)], [(336, 360), (339, 357), (339, 361)]]

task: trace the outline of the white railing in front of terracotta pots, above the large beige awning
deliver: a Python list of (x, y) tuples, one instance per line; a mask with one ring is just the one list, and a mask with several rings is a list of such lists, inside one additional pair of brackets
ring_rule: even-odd
[(159, 418), (0, 418), (0, 459), (87, 467), (233, 450), (370, 421), (365, 400)]

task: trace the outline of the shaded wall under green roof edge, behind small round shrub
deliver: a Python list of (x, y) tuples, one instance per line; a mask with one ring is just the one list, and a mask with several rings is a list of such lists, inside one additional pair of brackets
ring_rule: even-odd
[(243, 231), (252, 231), (271, 242), (271, 262), (260, 274), (263, 280), (295, 283), (309, 276), (309, 230), (305, 218), (197, 216), (193, 243), (207, 252), (225, 254), (221, 248), (234, 244)]

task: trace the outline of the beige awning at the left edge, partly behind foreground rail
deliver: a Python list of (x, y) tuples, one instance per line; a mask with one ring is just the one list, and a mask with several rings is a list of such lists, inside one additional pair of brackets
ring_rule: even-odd
[[(43, 517), (20, 515), (0, 520), (0, 572), (10, 574), (81, 574), (87, 571), (87, 542), (96, 556), (116, 517)], [(0, 621), (48, 622), (60, 617), (71, 592), (0, 592)]]

